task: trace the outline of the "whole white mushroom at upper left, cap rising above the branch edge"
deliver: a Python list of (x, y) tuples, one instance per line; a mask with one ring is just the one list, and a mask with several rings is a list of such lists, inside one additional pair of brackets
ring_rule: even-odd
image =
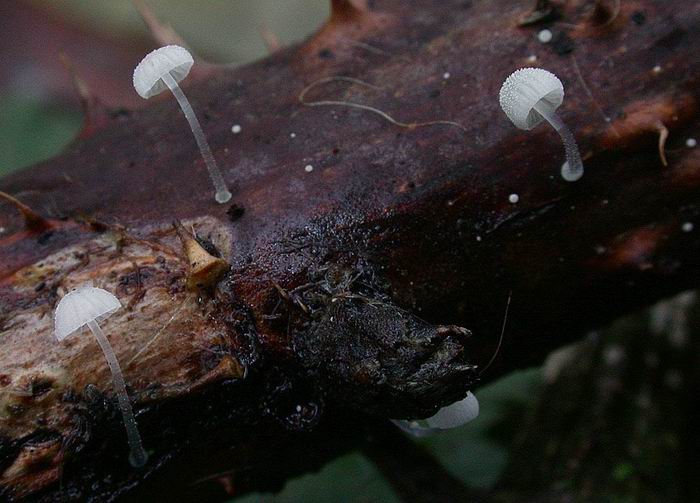
[(209, 143), (204, 137), (202, 126), (199, 124), (185, 93), (178, 85), (178, 82), (190, 73), (193, 64), (192, 55), (183, 47), (166, 45), (156, 49), (143, 58), (134, 69), (134, 89), (143, 99), (148, 99), (160, 94), (165, 89), (170, 89), (190, 124), (194, 139), (197, 141), (204, 163), (207, 165), (209, 176), (216, 189), (214, 196), (216, 202), (223, 204), (231, 199), (231, 193), (226, 187), (226, 182), (214, 160)]

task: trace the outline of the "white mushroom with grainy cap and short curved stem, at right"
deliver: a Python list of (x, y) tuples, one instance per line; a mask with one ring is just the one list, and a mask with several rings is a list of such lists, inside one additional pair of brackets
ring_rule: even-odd
[(556, 110), (564, 101), (564, 86), (551, 72), (541, 68), (522, 68), (513, 72), (501, 87), (501, 108), (519, 129), (530, 130), (546, 120), (559, 133), (566, 150), (561, 176), (575, 182), (583, 176), (583, 163), (576, 140)]

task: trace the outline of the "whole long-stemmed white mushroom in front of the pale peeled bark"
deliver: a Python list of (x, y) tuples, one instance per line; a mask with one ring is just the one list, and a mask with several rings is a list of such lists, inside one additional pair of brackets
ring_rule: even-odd
[(148, 456), (143, 449), (131, 402), (126, 394), (124, 376), (112, 346), (98, 325), (98, 322), (106, 320), (121, 307), (119, 300), (106, 290), (89, 285), (77, 288), (66, 294), (56, 306), (55, 334), (56, 338), (62, 341), (87, 325), (97, 339), (112, 372), (114, 391), (117, 394), (131, 449), (129, 461), (134, 467), (141, 467), (146, 464)]

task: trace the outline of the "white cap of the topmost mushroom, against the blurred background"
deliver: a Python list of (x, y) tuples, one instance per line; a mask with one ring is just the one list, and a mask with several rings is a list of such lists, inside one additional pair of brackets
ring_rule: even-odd
[(194, 59), (187, 49), (179, 45), (166, 45), (147, 54), (134, 69), (134, 89), (143, 99), (160, 94), (168, 86), (163, 75), (170, 73), (175, 82), (187, 77)]

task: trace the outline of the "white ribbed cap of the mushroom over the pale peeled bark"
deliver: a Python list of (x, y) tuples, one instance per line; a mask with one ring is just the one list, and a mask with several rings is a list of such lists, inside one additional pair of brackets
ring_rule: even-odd
[(122, 307), (114, 295), (93, 286), (81, 286), (64, 295), (56, 306), (54, 324), (60, 341), (91, 321), (102, 321)]

